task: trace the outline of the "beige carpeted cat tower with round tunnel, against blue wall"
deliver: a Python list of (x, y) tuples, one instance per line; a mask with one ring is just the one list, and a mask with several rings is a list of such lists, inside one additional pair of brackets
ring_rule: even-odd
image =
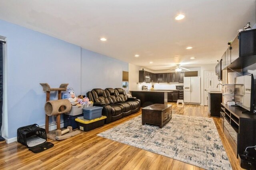
[[(60, 114), (68, 113), (71, 109), (71, 103), (67, 99), (61, 99), (61, 92), (66, 91), (68, 84), (60, 84), (59, 88), (50, 88), (47, 83), (40, 83), (46, 92), (46, 103), (44, 105), (45, 116), (45, 130), (47, 137), (52, 140), (68, 139), (72, 136), (78, 135), (80, 131), (73, 131), (71, 126), (62, 130), (60, 128)], [(50, 92), (58, 91), (58, 100), (50, 100)], [(49, 132), (49, 116), (56, 116), (57, 130)]]

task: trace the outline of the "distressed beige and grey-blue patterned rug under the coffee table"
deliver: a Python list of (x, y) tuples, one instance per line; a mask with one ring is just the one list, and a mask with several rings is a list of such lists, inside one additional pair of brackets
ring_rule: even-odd
[(140, 115), (98, 136), (208, 170), (232, 169), (212, 118), (173, 114), (160, 129), (142, 125)]

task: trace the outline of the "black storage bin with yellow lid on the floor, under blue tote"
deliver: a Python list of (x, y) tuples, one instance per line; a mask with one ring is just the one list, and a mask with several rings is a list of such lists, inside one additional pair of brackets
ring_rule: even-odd
[(86, 120), (84, 119), (84, 117), (78, 117), (76, 118), (76, 122), (78, 125), (78, 129), (82, 130), (82, 131), (90, 131), (92, 129), (96, 129), (98, 127), (101, 127), (104, 125), (104, 119), (106, 119), (106, 116), (101, 116), (99, 118), (96, 119), (92, 119), (92, 120)]

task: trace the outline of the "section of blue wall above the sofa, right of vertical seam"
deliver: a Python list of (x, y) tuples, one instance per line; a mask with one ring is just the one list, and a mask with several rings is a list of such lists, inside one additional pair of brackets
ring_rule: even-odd
[(122, 87), (122, 71), (128, 71), (128, 63), (99, 53), (82, 49), (82, 94), (93, 88)]

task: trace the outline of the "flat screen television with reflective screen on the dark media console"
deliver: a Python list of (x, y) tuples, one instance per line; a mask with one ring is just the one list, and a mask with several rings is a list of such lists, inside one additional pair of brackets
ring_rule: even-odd
[(234, 101), (236, 105), (254, 111), (254, 77), (253, 74), (235, 78)]

